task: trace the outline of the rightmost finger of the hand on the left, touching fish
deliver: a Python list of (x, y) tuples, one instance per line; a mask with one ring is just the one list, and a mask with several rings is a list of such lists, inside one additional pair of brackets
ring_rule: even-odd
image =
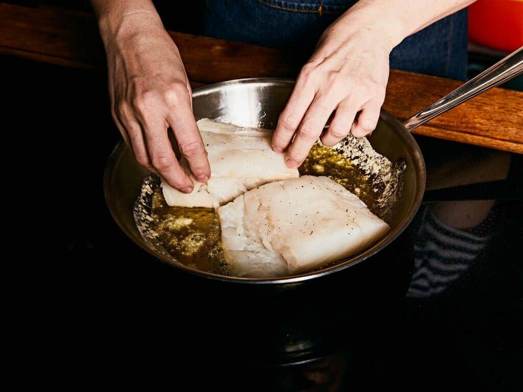
[(173, 129), (181, 154), (187, 159), (192, 175), (199, 182), (207, 182), (211, 177), (211, 167), (189, 102), (180, 102), (176, 110), (169, 113), (167, 121)]

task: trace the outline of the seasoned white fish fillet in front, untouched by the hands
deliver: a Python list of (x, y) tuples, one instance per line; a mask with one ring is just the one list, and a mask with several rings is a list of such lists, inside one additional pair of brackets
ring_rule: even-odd
[(260, 278), (354, 255), (390, 229), (328, 177), (268, 183), (221, 206), (218, 215), (231, 274)]

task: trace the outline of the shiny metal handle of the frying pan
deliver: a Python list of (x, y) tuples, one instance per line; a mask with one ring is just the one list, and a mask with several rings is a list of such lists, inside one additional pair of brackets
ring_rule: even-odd
[(523, 47), (499, 60), (496, 64), (470, 79), (446, 97), (441, 98), (428, 108), (406, 119), (403, 121), (403, 125), (408, 132), (411, 132), (419, 125), (439, 116), (441, 113), (445, 113), (447, 110), (483, 93), (483, 91), (504, 83), (521, 73), (523, 73)]

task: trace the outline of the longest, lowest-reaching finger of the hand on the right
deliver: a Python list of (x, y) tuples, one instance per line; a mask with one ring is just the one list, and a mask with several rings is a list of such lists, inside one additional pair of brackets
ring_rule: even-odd
[(298, 132), (287, 151), (285, 162), (288, 167), (297, 168), (302, 164), (311, 147), (320, 137), (335, 106), (335, 103), (329, 103), (325, 98), (316, 96), (309, 110), (305, 113)]

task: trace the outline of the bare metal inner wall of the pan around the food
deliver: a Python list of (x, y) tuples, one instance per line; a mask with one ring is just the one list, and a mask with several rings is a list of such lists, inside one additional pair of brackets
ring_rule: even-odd
[[(292, 87), (293, 83), (285, 80), (247, 79), (197, 89), (193, 95), (195, 117), (197, 120), (210, 118), (240, 126), (261, 126), (274, 129), (279, 113), (285, 107), (291, 94)], [(405, 131), (399, 121), (383, 111), (377, 129), (368, 139), (372, 147), (393, 164), (396, 162), (405, 164), (405, 169), (402, 170), (401, 197), (397, 200), (392, 198), (393, 201), (385, 203), (386, 211), (377, 213), (389, 223), (391, 230), (378, 243), (359, 255), (340, 261), (335, 266), (322, 271), (304, 274), (304, 279), (315, 274), (347, 267), (372, 255), (401, 232), (419, 205), (424, 189), (425, 171), (423, 158), (412, 136)], [(396, 166), (394, 170), (397, 168), (399, 166)], [(154, 238), (149, 237), (147, 241), (144, 240), (134, 222), (135, 200), (141, 193), (142, 182), (147, 175), (147, 171), (135, 162), (127, 148), (123, 145), (117, 146), (109, 159), (106, 170), (105, 192), (109, 209), (124, 232), (135, 243), (164, 261), (180, 268), (189, 269), (170, 257)], [(394, 196), (399, 196), (399, 194), (395, 191)], [(142, 200), (142, 202), (144, 205), (150, 203), (149, 200)], [(147, 236), (145, 237), (147, 238)], [(212, 275), (201, 271), (192, 270), (192, 272)], [(247, 278), (222, 277), (221, 279), (261, 281)], [(280, 278), (274, 281), (286, 279), (290, 278)]]

